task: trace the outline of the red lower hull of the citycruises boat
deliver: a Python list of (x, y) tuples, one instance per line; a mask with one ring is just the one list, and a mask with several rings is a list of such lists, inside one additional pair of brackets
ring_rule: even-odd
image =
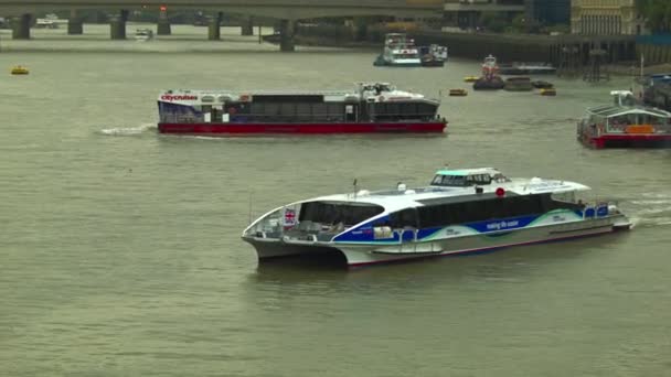
[(159, 132), (178, 134), (264, 133), (437, 133), (446, 122), (342, 122), (342, 123), (159, 123)]

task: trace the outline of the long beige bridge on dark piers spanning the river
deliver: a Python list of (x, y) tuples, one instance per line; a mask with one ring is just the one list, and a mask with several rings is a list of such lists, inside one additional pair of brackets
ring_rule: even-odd
[(160, 11), (157, 34), (170, 34), (168, 10), (213, 12), (209, 39), (220, 39), (222, 12), (246, 15), (243, 35), (253, 34), (252, 17), (280, 20), (280, 50), (294, 51), (294, 25), (298, 20), (327, 17), (392, 15), (403, 18), (441, 18), (444, 0), (0, 0), (0, 15), (14, 17), (12, 36), (30, 39), (32, 14), (70, 10), (68, 34), (82, 34), (83, 21), (77, 10), (105, 9), (116, 12), (110, 19), (110, 37), (126, 39), (126, 21), (131, 10)]

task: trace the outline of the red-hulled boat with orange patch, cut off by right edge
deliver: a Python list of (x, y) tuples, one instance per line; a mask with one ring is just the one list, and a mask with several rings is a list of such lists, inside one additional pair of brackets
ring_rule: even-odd
[(671, 112), (639, 105), (629, 90), (610, 93), (615, 101), (587, 109), (577, 138), (594, 148), (671, 147)]

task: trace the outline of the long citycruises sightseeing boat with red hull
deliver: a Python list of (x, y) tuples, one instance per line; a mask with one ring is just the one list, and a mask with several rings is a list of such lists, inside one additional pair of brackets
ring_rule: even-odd
[(443, 132), (438, 99), (387, 83), (341, 91), (167, 90), (159, 132), (180, 134)]

